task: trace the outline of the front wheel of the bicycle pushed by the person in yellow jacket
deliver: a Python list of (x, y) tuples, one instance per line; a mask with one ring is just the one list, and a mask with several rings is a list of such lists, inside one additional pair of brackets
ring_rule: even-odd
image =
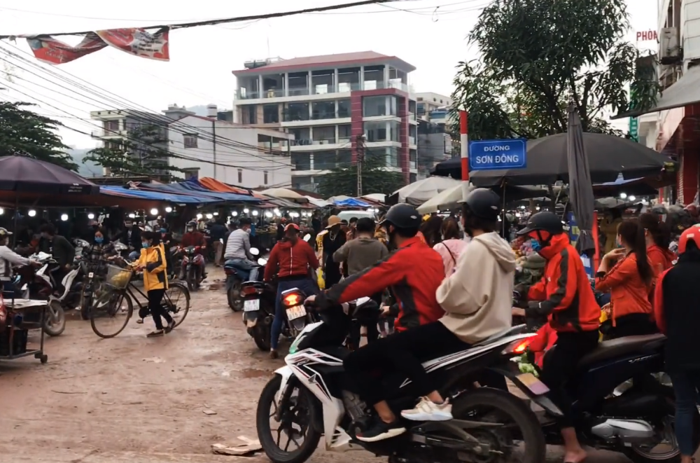
[(129, 294), (119, 289), (105, 289), (90, 308), (90, 326), (100, 338), (113, 338), (124, 331), (134, 313)]

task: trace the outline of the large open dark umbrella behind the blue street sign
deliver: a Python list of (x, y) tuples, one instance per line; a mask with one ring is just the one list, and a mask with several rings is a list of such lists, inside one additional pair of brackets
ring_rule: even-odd
[[(476, 186), (552, 185), (558, 180), (568, 183), (567, 137), (566, 133), (561, 133), (529, 140), (525, 169), (470, 172), (469, 180)], [(643, 144), (614, 135), (585, 132), (583, 146), (594, 184), (615, 181), (618, 174), (626, 179), (657, 176), (673, 163), (671, 158)], [(438, 164), (433, 173), (459, 179), (459, 159)]]

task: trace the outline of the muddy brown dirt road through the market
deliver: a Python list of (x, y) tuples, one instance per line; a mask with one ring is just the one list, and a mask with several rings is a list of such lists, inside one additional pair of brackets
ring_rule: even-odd
[[(219, 276), (212, 273), (213, 279)], [(211, 454), (214, 443), (256, 438), (260, 389), (282, 364), (257, 350), (223, 290), (193, 294), (187, 319), (165, 338), (147, 339), (151, 329), (150, 319), (139, 325), (132, 318), (118, 337), (103, 340), (89, 322), (71, 319), (62, 336), (48, 338), (48, 364), (31, 357), (0, 363), (2, 461), (267, 461)], [(559, 455), (552, 452), (553, 459)], [(330, 459), (373, 458), (366, 452), (319, 451), (311, 462)], [(596, 454), (589, 461), (627, 460)]]

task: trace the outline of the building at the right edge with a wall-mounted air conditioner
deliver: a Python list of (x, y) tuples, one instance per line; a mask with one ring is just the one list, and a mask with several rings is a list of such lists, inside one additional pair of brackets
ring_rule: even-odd
[(662, 199), (689, 204), (700, 176), (700, 0), (659, 0), (658, 74), (663, 94), (638, 118), (640, 143), (678, 160), (676, 188)]

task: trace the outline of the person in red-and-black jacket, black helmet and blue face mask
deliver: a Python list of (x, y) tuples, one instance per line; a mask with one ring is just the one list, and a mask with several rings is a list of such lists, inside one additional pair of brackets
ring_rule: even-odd
[(547, 317), (556, 331), (556, 349), (545, 356), (540, 380), (549, 387), (550, 399), (563, 413), (561, 436), (564, 463), (579, 463), (587, 456), (578, 442), (571, 416), (572, 400), (564, 387), (576, 365), (598, 345), (601, 308), (576, 249), (563, 233), (561, 220), (552, 212), (533, 214), (518, 232), (531, 238), (533, 250), (547, 260), (545, 275), (528, 289), (527, 319)]

